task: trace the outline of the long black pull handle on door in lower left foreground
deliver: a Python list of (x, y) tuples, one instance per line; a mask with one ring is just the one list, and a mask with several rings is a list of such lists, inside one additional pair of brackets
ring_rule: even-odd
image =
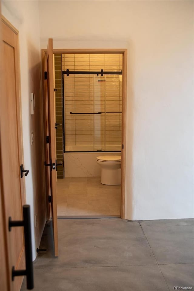
[(32, 264), (32, 241), (31, 241), (31, 224), (30, 224), (30, 206), (23, 206), (23, 220), (12, 220), (9, 217), (9, 231), (12, 227), (23, 226), (24, 227), (24, 238), (25, 238), (25, 270), (15, 270), (12, 267), (12, 281), (15, 276), (26, 276), (27, 289), (31, 290), (34, 288), (34, 275), (33, 275), (33, 264)]

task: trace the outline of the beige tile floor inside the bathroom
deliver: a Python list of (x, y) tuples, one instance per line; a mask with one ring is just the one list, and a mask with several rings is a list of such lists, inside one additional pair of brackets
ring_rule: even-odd
[(58, 216), (120, 216), (120, 209), (120, 185), (102, 185), (100, 177), (57, 180)]

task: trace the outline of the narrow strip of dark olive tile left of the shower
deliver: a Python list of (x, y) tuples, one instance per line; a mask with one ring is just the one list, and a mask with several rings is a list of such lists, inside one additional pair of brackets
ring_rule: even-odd
[[(55, 54), (55, 108), (56, 108), (56, 123), (59, 123), (59, 128), (56, 129), (56, 148), (57, 148), (57, 163), (63, 163), (63, 133), (62, 133), (62, 70), (61, 70), (61, 54)], [(64, 178), (63, 166), (57, 167), (57, 178)]]

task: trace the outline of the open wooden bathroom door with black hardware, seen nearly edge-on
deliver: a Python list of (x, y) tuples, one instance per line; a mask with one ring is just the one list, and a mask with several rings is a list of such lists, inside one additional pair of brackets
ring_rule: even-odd
[[(53, 226), (53, 238), (55, 256), (58, 256), (58, 227), (57, 227), (57, 197), (56, 197), (56, 143), (55, 143), (55, 100), (54, 100), (54, 70), (53, 70), (53, 45), (52, 38), (49, 38), (47, 51), (46, 51), (46, 62), (45, 62), (45, 87), (44, 87), (44, 98), (45, 104), (47, 105), (47, 155), (45, 162), (46, 169), (49, 169), (50, 175), (46, 175), (46, 185), (50, 192), (50, 203), (52, 211), (52, 226)], [(47, 171), (47, 170), (46, 170)], [(49, 187), (48, 187), (49, 186)]]

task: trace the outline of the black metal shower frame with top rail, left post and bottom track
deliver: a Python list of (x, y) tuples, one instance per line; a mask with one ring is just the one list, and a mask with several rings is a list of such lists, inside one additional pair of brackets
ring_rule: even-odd
[[(62, 122), (63, 122), (63, 152), (65, 152), (65, 116), (64, 116), (64, 105), (65, 105), (65, 96), (64, 96), (64, 75), (97, 75), (103, 77), (103, 75), (122, 75), (122, 70), (119, 72), (104, 72), (103, 69), (100, 70), (100, 72), (97, 71), (69, 71), (69, 69), (66, 69), (66, 71), (62, 71)], [(102, 113), (102, 112), (101, 112)], [(112, 113), (112, 112), (108, 112)], [(122, 112), (115, 112), (115, 113), (122, 113)], [(75, 114), (75, 113), (73, 113)], [(80, 113), (79, 113), (80, 114)], [(84, 113), (85, 114), (85, 113)], [(87, 113), (88, 114), (88, 113)], [(100, 114), (97, 113), (97, 114)], [(83, 152), (83, 151), (82, 151)], [(85, 151), (90, 152), (90, 151)], [(92, 151), (92, 152), (100, 152), (100, 151)], [(103, 151), (103, 152), (112, 152), (112, 151)], [(114, 151), (114, 152), (121, 152), (121, 151)]]

